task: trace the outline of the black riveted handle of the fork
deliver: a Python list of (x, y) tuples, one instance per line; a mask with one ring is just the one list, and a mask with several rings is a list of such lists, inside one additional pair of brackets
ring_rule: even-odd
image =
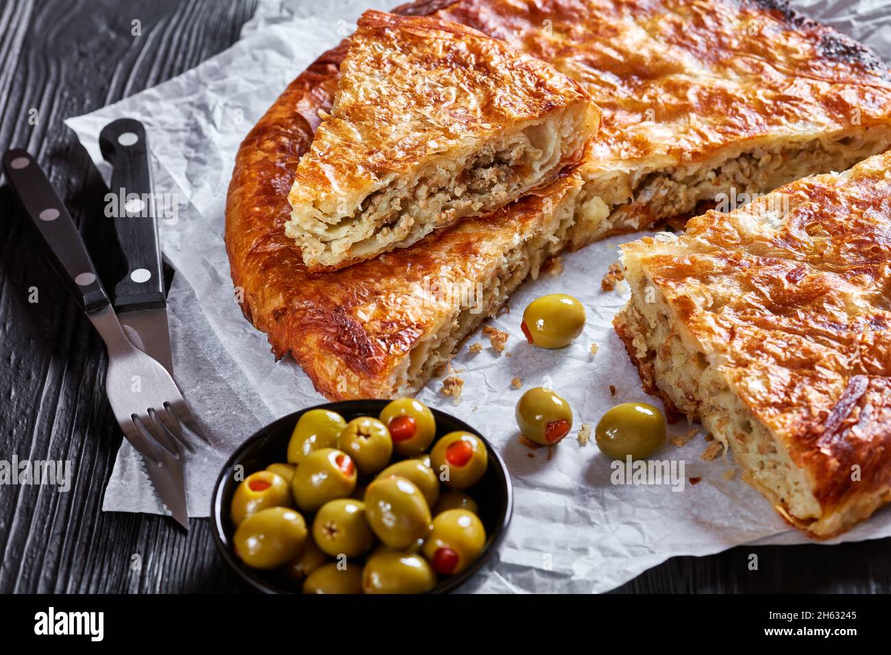
[(84, 240), (37, 161), (27, 151), (14, 148), (4, 154), (3, 166), (6, 179), (37, 226), (47, 257), (80, 307), (92, 312), (108, 306)]

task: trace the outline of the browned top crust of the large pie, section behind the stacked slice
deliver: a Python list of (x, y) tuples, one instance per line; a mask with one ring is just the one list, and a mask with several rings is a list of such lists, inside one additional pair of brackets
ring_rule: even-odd
[(437, 15), (578, 80), (603, 112), (594, 168), (888, 121), (886, 65), (781, 1), (471, 0)]

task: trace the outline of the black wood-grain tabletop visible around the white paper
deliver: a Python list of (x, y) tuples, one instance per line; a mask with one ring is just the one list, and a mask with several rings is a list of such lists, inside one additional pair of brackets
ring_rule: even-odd
[[(4, 0), (0, 4), (0, 151), (28, 149), (50, 173), (96, 258), (106, 190), (62, 124), (172, 78), (238, 38), (256, 0)], [(134, 37), (134, 20), (142, 36)], [(37, 302), (29, 302), (37, 289)], [(243, 589), (211, 543), (170, 520), (103, 513), (121, 441), (105, 399), (93, 327), (0, 188), (0, 459), (71, 460), (68, 493), (0, 486), (0, 592), (229, 592)], [(759, 556), (748, 569), (749, 553)], [(139, 555), (141, 567), (133, 566)], [(734, 548), (676, 557), (623, 592), (888, 592), (891, 539), (837, 546)]]

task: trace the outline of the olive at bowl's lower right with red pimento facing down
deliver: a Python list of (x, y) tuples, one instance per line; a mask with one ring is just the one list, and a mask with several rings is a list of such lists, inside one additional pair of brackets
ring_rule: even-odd
[(486, 528), (473, 512), (448, 510), (433, 520), (424, 542), (424, 557), (437, 573), (461, 573), (477, 560), (486, 545)]

